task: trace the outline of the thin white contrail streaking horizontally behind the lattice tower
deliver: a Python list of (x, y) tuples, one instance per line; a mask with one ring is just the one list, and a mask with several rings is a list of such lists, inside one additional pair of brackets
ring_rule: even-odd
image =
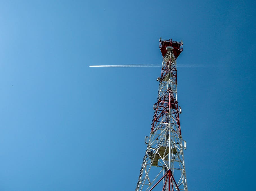
[[(91, 65), (89, 67), (114, 67), (114, 68), (141, 68), (141, 67), (162, 67), (161, 64), (124, 64), (124, 65)], [(208, 67), (198, 64), (177, 64), (177, 67)]]

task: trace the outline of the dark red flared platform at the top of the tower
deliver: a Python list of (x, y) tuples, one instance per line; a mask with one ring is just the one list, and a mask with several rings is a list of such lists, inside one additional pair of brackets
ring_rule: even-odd
[(162, 40), (160, 38), (159, 42), (160, 42), (159, 48), (161, 50), (161, 53), (162, 53), (163, 57), (167, 53), (167, 50), (166, 50), (167, 46), (172, 46), (173, 47), (172, 52), (173, 52), (175, 58), (178, 58), (178, 56), (180, 55), (180, 53), (183, 50), (183, 46), (182, 46), (183, 42), (182, 41), (178, 42), (178, 41), (173, 41), (172, 39)]

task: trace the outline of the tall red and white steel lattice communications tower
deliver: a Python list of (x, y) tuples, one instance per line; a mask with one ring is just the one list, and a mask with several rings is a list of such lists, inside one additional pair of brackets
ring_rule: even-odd
[[(176, 59), (183, 50), (183, 42), (162, 40), (163, 55), (161, 77), (158, 77), (158, 99), (154, 104), (154, 117), (150, 136), (146, 136), (147, 150), (143, 158), (136, 191), (187, 191), (182, 139), (179, 122), (181, 107), (177, 101)], [(161, 183), (162, 182), (162, 183)]]

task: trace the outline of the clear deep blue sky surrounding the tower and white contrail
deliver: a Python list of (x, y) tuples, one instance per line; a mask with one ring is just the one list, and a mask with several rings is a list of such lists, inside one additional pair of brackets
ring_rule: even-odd
[(255, 188), (255, 1), (1, 1), (0, 190), (135, 190), (159, 38), (183, 40), (189, 190)]

